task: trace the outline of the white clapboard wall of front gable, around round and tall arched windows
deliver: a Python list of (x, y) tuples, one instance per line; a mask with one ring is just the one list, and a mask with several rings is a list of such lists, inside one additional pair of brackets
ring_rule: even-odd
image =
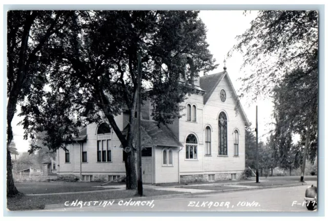
[[(221, 102), (219, 97), (221, 89), (225, 90), (227, 94), (225, 102)], [(240, 108), (236, 115), (235, 102), (232, 88), (229, 86), (227, 77), (224, 77), (203, 107), (203, 124), (204, 126), (210, 125), (213, 129), (211, 134), (212, 156), (204, 156), (204, 171), (242, 171), (245, 168), (245, 123), (240, 114)], [(226, 112), (228, 118), (228, 157), (218, 156), (218, 115), (222, 110)], [(236, 128), (239, 131), (238, 157), (233, 156), (233, 131)]]

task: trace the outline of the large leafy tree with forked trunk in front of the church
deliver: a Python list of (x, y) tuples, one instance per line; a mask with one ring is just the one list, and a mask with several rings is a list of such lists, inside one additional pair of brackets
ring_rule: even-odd
[[(135, 189), (137, 66), (141, 56), (142, 100), (151, 99), (153, 119), (170, 124), (179, 103), (193, 93), (192, 80), (216, 68), (198, 11), (76, 11), (71, 30), (47, 50), (54, 57), (50, 90), (38, 90), (22, 106), (26, 136), (47, 131), (50, 149), (65, 148), (80, 125), (106, 119), (126, 154), (127, 189)], [(163, 64), (167, 68), (163, 69)], [(145, 90), (150, 87), (152, 90)], [(130, 114), (124, 136), (115, 116)], [(72, 121), (77, 117), (76, 123)], [(37, 148), (32, 147), (32, 148)]]

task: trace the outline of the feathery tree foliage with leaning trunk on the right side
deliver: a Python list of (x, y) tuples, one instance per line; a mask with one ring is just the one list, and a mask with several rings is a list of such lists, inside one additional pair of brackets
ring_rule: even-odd
[(314, 156), (317, 148), (318, 12), (259, 11), (237, 40), (229, 56), (241, 52), (241, 68), (251, 70), (240, 78), (242, 96), (273, 97), (275, 141), (288, 144), (279, 146), (278, 157), (285, 159), (291, 137), (301, 136), (303, 181), (307, 149)]

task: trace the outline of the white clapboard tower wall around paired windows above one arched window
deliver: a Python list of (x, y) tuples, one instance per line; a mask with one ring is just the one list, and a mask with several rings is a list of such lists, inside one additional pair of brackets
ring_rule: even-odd
[[(186, 107), (187, 104), (196, 104), (197, 115), (196, 122), (187, 121), (187, 108), (182, 110), (179, 119), (179, 141), (184, 145), (179, 153), (180, 158), (180, 173), (183, 172), (202, 172), (203, 171), (203, 96), (197, 94), (191, 94), (185, 102), (181, 103), (182, 106)], [(186, 138), (189, 134), (195, 134), (198, 140), (197, 146), (197, 160), (186, 159)]]

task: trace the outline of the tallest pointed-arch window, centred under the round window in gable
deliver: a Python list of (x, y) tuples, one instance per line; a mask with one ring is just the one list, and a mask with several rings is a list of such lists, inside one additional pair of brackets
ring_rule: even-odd
[[(222, 114), (222, 115), (221, 115)], [(221, 116), (223, 118), (223, 120), (221, 120)], [(225, 119), (224, 119), (225, 118)], [(221, 122), (223, 121), (223, 123)], [(219, 117), (218, 117), (218, 156), (228, 156), (228, 117), (227, 114), (225, 112), (220, 112)], [(221, 129), (223, 128), (223, 132), (221, 131)], [(222, 132), (222, 134), (221, 134)], [(223, 146), (221, 146), (222, 142), (221, 142), (221, 138), (223, 136)], [(226, 145), (224, 145), (226, 144)], [(224, 146), (226, 146), (226, 148), (224, 148)], [(226, 150), (226, 151), (224, 151)], [(222, 153), (223, 151), (223, 153)]]

